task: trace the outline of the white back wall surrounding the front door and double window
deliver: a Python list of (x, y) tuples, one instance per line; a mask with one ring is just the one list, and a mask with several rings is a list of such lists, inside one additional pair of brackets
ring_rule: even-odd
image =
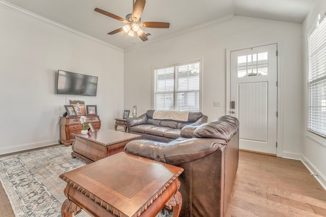
[[(225, 115), (226, 49), (265, 41), (280, 42), (281, 155), (301, 158), (302, 24), (234, 16), (230, 21), (205, 29), (127, 50), (124, 55), (125, 109), (137, 105), (141, 115), (152, 108), (152, 67), (202, 58), (202, 112), (208, 121)], [(214, 107), (213, 101), (221, 101), (222, 106)]]

